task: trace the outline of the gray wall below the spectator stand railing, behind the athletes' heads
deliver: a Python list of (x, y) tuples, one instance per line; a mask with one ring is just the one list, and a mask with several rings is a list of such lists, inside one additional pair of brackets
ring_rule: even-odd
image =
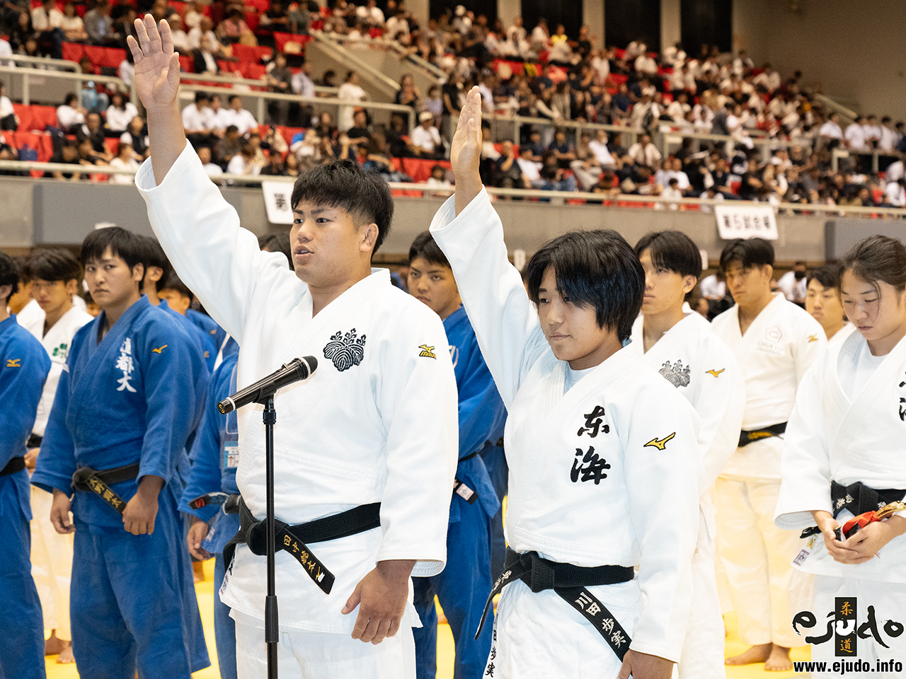
[[(288, 229), (267, 222), (260, 189), (226, 187), (222, 193), (236, 207), (242, 225), (255, 234)], [(412, 240), (428, 228), (442, 202), (440, 198), (396, 198), (393, 230), (381, 254), (408, 253)], [(7, 248), (80, 244), (99, 223), (151, 234), (145, 203), (134, 186), (4, 177), (0, 179), (0, 205), (4, 206), (0, 212), (0, 246)], [(714, 217), (706, 213), (512, 200), (496, 200), (494, 206), (504, 223), (506, 244), (511, 251), (521, 249), (530, 254), (556, 235), (593, 228), (616, 229), (632, 244), (649, 231), (678, 229), (707, 250), (712, 260), (723, 247)], [(777, 260), (823, 260), (825, 221), (822, 216), (778, 215)], [(861, 225), (863, 234), (866, 226), (880, 229), (888, 224), (854, 221)]]

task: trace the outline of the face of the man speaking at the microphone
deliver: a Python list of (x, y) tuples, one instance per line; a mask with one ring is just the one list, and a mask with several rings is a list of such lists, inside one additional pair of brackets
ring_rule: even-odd
[(313, 287), (349, 280), (362, 253), (370, 253), (377, 225), (356, 226), (342, 207), (300, 202), (293, 211), (289, 239), (295, 275)]

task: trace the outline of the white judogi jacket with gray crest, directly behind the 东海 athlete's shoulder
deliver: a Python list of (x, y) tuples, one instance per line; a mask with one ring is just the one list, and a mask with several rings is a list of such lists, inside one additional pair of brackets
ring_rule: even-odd
[[(714, 507), (708, 489), (717, 481), (739, 441), (746, 407), (746, 382), (733, 352), (711, 331), (698, 313), (688, 312), (651, 349), (644, 350), (643, 320), (632, 325), (631, 349), (671, 385), (677, 387), (699, 414), (699, 478), (701, 519), (711, 539), (715, 535)], [(699, 540), (703, 537), (699, 529)]]

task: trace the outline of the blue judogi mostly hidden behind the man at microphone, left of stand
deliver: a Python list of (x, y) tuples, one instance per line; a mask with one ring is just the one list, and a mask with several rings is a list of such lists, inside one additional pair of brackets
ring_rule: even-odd
[(236, 487), (236, 466), (239, 464), (236, 411), (224, 416), (217, 410), (217, 403), (236, 391), (238, 359), (238, 354), (224, 357), (211, 378), (205, 415), (189, 455), (192, 470), (179, 501), (180, 512), (193, 514), (208, 524), (207, 538), (201, 546), (215, 555), (214, 634), (222, 679), (236, 679), (236, 623), (229, 617), (230, 609), (220, 600), (219, 591), (225, 572), (224, 546), (239, 530), (239, 515), (224, 513), (222, 505), (209, 504), (196, 510), (188, 503), (207, 493), (239, 493)]

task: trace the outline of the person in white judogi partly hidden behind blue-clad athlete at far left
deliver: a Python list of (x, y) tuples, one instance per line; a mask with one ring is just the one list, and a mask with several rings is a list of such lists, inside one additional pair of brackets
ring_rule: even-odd
[[(41, 342), (51, 359), (51, 369), (44, 382), (37, 416), (34, 418), (29, 457), (26, 462), (34, 468), (41, 445), (44, 427), (51, 413), (57, 382), (66, 365), (69, 346), (76, 330), (91, 322), (92, 316), (77, 306), (82, 268), (67, 250), (44, 249), (32, 254), (25, 263), (32, 280), (32, 295), (40, 313), (34, 313), (23, 327)], [(32, 486), (32, 577), (41, 598), (44, 628), (54, 630), (53, 636), (68, 646), (72, 639), (69, 624), (69, 588), (72, 578), (72, 535), (60, 535), (48, 521), (53, 495)], [(48, 645), (54, 638), (48, 640)], [(67, 647), (50, 648), (59, 651), (58, 662), (72, 662)]]

